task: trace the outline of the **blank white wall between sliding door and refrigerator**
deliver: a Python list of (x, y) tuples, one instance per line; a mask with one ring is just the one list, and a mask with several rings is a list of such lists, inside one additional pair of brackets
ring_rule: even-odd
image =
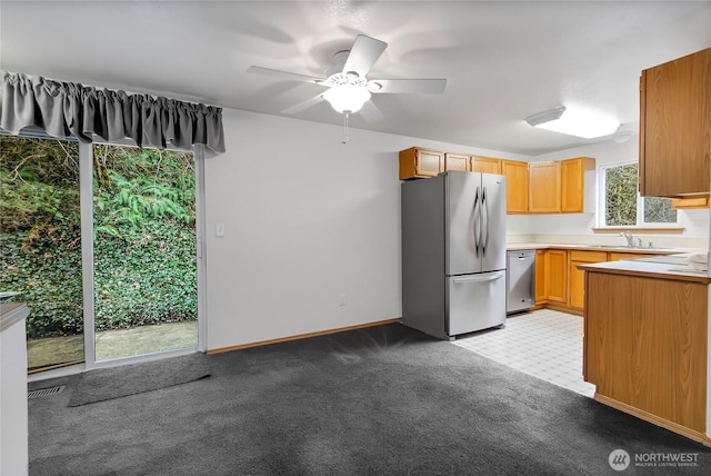
[(208, 349), (400, 317), (398, 151), (522, 159), (357, 129), (342, 145), (340, 127), (240, 110), (223, 122), (227, 152), (206, 160)]

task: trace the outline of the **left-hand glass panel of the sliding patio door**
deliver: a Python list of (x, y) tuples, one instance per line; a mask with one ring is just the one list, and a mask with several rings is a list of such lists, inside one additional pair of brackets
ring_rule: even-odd
[(0, 292), (26, 301), (30, 371), (84, 360), (79, 148), (0, 136)]

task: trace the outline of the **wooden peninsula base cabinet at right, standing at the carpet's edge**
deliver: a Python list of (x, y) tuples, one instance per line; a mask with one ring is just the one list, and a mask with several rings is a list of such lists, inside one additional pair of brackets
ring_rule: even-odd
[(595, 400), (708, 445), (708, 278), (659, 267), (583, 267), (583, 377)]

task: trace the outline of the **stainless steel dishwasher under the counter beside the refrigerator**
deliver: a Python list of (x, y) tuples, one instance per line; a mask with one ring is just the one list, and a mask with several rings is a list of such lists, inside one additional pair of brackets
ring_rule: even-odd
[(507, 251), (507, 314), (535, 304), (535, 250)]

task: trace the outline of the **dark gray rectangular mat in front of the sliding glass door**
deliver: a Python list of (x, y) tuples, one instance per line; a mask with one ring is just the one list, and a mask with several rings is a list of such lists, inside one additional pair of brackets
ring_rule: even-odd
[(158, 390), (209, 375), (208, 357), (202, 353), (121, 367), (92, 369), (81, 374), (79, 383), (73, 386), (69, 406), (77, 407)]

